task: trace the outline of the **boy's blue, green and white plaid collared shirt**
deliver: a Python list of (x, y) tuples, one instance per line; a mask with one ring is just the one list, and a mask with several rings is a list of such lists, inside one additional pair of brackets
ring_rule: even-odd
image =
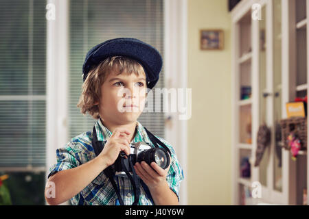
[[(95, 123), (95, 129), (99, 141), (108, 140), (111, 137), (111, 131), (109, 131), (102, 124), (101, 120)], [(163, 138), (156, 136), (163, 142), (172, 153), (170, 170), (166, 180), (170, 189), (176, 194), (179, 199), (179, 187), (183, 180), (183, 170), (179, 164), (176, 154), (172, 146), (166, 142)], [(76, 166), (85, 164), (91, 159), (95, 158), (93, 146), (91, 145), (92, 131), (87, 131), (79, 136), (71, 139), (71, 142), (67, 143), (64, 148), (56, 150), (57, 164), (54, 164), (49, 168), (48, 177), (54, 175), (61, 170), (67, 170), (75, 168)], [(137, 121), (137, 132), (133, 142), (146, 142), (153, 146), (150, 138), (144, 129), (144, 127)], [(132, 205), (134, 201), (133, 186), (127, 177), (114, 177), (119, 192), (122, 195), (124, 205)], [(140, 179), (141, 180), (141, 179)], [(152, 198), (148, 196), (149, 193), (145, 192), (141, 186), (141, 194), (139, 196), (139, 205), (154, 205)], [(96, 177), (89, 185), (87, 185), (80, 193), (71, 198), (73, 205), (119, 205), (117, 200), (117, 194), (109, 181), (108, 177), (102, 171), (98, 177)]]

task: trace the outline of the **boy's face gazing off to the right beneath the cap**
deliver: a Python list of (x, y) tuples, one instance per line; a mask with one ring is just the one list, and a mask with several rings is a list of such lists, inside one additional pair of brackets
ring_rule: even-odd
[(109, 74), (101, 86), (101, 118), (117, 125), (135, 122), (144, 110), (146, 89), (145, 74)]

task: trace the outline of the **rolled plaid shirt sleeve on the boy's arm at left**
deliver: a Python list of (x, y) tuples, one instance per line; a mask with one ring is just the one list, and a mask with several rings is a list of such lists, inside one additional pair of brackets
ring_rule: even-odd
[(57, 163), (49, 168), (49, 175), (47, 178), (54, 175), (61, 170), (68, 170), (80, 165), (80, 161), (76, 157), (76, 153), (72, 149), (74, 142), (69, 142), (64, 148), (56, 150)]

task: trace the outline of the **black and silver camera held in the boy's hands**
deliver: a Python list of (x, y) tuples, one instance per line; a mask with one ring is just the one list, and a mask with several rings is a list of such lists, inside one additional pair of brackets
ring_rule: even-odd
[[(130, 144), (130, 155), (126, 156), (124, 152), (119, 153), (119, 156), (113, 164), (113, 170), (117, 177), (127, 177), (126, 172), (124, 172), (122, 168), (121, 159), (123, 159), (123, 157), (130, 159), (133, 165), (135, 165), (136, 162), (142, 161), (146, 162), (148, 165), (150, 165), (151, 162), (156, 162), (161, 168), (165, 169), (170, 164), (170, 157), (165, 149), (159, 147), (153, 148), (146, 142), (135, 142)], [(126, 168), (130, 174), (132, 174), (133, 170), (128, 165), (128, 161), (126, 164)]]

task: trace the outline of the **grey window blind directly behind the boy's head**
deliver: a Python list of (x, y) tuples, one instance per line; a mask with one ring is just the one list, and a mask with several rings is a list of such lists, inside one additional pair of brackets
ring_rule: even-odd
[[(82, 64), (93, 46), (111, 38), (138, 38), (163, 56), (163, 0), (70, 1), (69, 138), (92, 131), (95, 120), (76, 107), (82, 88)], [(163, 88), (162, 69), (155, 88)], [(152, 88), (155, 91), (155, 88)], [(161, 95), (162, 96), (162, 95)], [(153, 98), (156, 100), (155, 92)], [(152, 133), (164, 138), (164, 114), (144, 112), (137, 119)]]

